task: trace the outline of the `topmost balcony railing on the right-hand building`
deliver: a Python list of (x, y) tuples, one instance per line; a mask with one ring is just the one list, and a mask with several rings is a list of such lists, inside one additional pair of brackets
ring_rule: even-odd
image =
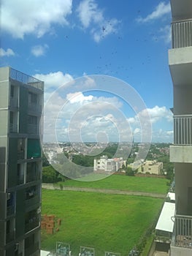
[(192, 46), (192, 19), (172, 23), (172, 48)]

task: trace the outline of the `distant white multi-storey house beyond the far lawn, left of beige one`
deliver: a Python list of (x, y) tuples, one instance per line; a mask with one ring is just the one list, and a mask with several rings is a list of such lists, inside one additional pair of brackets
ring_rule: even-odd
[(123, 161), (122, 157), (110, 159), (102, 156), (100, 159), (94, 159), (94, 171), (97, 172), (117, 172), (123, 165), (126, 165), (126, 161)]

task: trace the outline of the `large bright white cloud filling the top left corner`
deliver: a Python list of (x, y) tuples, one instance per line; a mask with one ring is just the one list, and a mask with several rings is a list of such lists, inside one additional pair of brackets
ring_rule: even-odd
[(12, 37), (26, 34), (42, 37), (55, 24), (67, 25), (72, 13), (72, 0), (9, 0), (1, 2), (1, 30)]

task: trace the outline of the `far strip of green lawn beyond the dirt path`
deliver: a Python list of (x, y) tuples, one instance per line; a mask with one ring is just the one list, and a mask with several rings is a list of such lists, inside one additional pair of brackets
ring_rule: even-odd
[[(99, 176), (97, 174), (97, 176)], [(63, 184), (64, 187), (91, 187), (99, 189), (120, 189), (120, 190), (131, 190), (139, 192), (153, 192), (153, 193), (162, 193), (166, 194), (169, 187), (166, 186), (166, 178), (153, 178), (153, 177), (137, 177), (137, 176), (121, 176), (121, 175), (112, 175), (104, 176), (100, 175), (99, 178), (102, 178), (97, 181), (90, 181), (98, 179), (95, 175), (86, 176), (82, 178), (84, 181), (77, 180), (67, 180), (65, 182), (59, 182)], [(107, 177), (107, 178), (105, 178)], [(88, 181), (85, 181), (87, 178)]]

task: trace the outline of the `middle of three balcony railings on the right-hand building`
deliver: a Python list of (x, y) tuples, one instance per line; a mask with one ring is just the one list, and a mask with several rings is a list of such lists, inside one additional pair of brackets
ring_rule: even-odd
[(192, 115), (174, 116), (174, 144), (192, 145)]

